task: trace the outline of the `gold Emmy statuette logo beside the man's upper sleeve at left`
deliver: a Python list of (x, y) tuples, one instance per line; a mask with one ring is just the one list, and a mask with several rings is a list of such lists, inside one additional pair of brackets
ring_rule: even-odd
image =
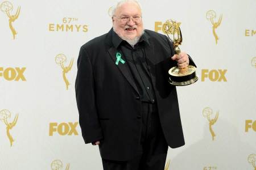
[(55, 62), (58, 65), (60, 65), (62, 69), (63, 80), (66, 84), (66, 90), (68, 90), (68, 86), (70, 85), (70, 83), (67, 79), (67, 73), (72, 69), (74, 59), (73, 58), (71, 59), (68, 66), (64, 66), (64, 63), (66, 61), (67, 61), (67, 57), (64, 54), (57, 54), (57, 56), (55, 57)]

